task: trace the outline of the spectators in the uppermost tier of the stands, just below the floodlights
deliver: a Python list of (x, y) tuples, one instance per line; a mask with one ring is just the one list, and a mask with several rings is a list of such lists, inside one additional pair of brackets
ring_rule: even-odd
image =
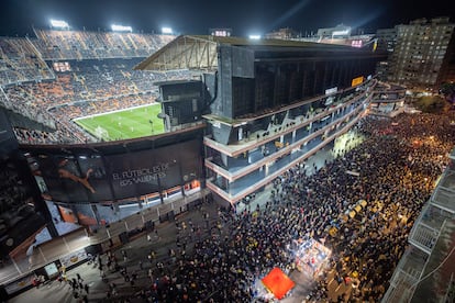
[(54, 79), (45, 60), (145, 58), (173, 35), (36, 30), (37, 37), (0, 37), (0, 86)]

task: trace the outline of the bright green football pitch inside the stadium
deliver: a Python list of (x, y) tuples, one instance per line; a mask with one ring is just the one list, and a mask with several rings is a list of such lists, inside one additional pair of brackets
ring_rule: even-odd
[(152, 104), (78, 117), (74, 122), (103, 141), (137, 138), (164, 133), (163, 120), (157, 117), (160, 111), (160, 104)]

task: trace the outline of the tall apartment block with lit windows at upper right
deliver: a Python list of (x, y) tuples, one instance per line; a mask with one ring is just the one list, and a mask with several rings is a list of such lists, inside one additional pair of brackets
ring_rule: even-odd
[(388, 80), (423, 88), (445, 81), (454, 70), (454, 55), (447, 50), (453, 46), (454, 27), (448, 18), (419, 19), (395, 26), (397, 43), (388, 60)]

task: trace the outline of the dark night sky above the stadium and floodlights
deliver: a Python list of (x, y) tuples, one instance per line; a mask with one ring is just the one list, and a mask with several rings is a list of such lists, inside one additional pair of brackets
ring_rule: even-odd
[(264, 34), (280, 27), (311, 32), (344, 23), (366, 33), (418, 18), (446, 15), (454, 22), (450, 0), (1, 0), (0, 35), (32, 34), (31, 25), (48, 27), (60, 19), (73, 29), (133, 31), (170, 26), (185, 34), (208, 34), (210, 27), (231, 27), (234, 35)]

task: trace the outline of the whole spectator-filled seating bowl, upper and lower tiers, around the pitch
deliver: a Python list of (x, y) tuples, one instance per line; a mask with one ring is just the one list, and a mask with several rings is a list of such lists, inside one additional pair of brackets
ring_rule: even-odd
[(97, 141), (71, 120), (153, 103), (156, 81), (188, 79), (188, 70), (133, 70), (175, 36), (48, 31), (37, 38), (0, 37), (0, 105), (55, 131), (13, 125), (24, 144)]

